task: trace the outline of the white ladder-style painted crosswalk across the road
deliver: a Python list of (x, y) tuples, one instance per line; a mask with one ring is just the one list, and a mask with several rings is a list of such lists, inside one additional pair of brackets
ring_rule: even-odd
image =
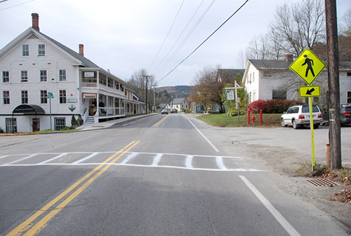
[[(164, 167), (176, 169), (192, 169), (227, 172), (257, 172), (264, 171), (255, 168), (242, 168), (246, 158), (216, 155), (186, 155), (178, 153), (143, 153), (123, 152), (124, 158), (116, 163), (102, 163), (97, 160), (102, 155), (115, 152), (72, 152), (72, 153), (31, 153), (0, 156), (0, 167), (36, 166), (36, 165), (120, 165), (130, 167)], [(69, 156), (83, 155), (79, 160), (69, 160)], [(18, 160), (13, 160), (19, 158)], [(22, 157), (23, 156), (23, 157)], [(52, 157), (53, 158), (50, 158)], [(29, 161), (30, 158), (36, 159)], [(42, 161), (44, 158), (47, 160)], [(41, 159), (41, 160), (40, 160)], [(58, 160), (60, 159), (60, 160)], [(27, 162), (26, 162), (27, 160)], [(56, 160), (56, 161), (55, 161)], [(204, 160), (204, 161), (203, 161)], [(37, 161), (37, 163), (33, 163)], [(20, 162), (20, 163), (19, 163)]]

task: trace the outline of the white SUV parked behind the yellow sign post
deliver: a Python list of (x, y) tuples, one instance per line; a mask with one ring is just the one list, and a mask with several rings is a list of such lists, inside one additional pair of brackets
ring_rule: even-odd
[[(317, 105), (312, 105), (312, 114), (313, 127), (317, 129), (323, 121), (322, 112)], [(292, 125), (295, 130), (305, 125), (310, 126), (310, 106), (306, 104), (289, 107), (280, 117), (280, 125)]]

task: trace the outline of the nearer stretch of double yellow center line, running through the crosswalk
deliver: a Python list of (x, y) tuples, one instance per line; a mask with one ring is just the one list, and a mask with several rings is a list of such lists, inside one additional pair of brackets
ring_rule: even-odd
[[(64, 192), (62, 192), (60, 195), (58, 195), (58, 197), (55, 197), (55, 199), (51, 200), (51, 202), (48, 202), (48, 204), (46, 204), (44, 207), (42, 207), (39, 211), (37, 211), (36, 213), (34, 213), (32, 216), (30, 216), (29, 218), (27, 218), (26, 221), (23, 221), (20, 225), (18, 225), (15, 229), (13, 229), (11, 232), (9, 232), (6, 236), (11, 236), (11, 235), (20, 235), (22, 232), (24, 232), (25, 230), (27, 230), (28, 228), (30, 228), (30, 223), (32, 223), (36, 218), (38, 218), (41, 214), (43, 214), (44, 212), (46, 212), (48, 209), (50, 209), (50, 207), (53, 206), (53, 204), (57, 203), (59, 200), (62, 199), (62, 197), (65, 197), (65, 195), (67, 195), (69, 192), (71, 192), (74, 188), (76, 188), (77, 186), (79, 186), (79, 184), (81, 184), (83, 181), (85, 181), (86, 179), (88, 179), (90, 176), (92, 176), (93, 174), (95, 174), (95, 172), (98, 172), (98, 170), (103, 167), (104, 165), (106, 165), (107, 162), (109, 162), (110, 160), (112, 160), (113, 158), (115, 158), (119, 153), (119, 155), (117, 156), (117, 158), (115, 158), (114, 160), (112, 160), (112, 162), (110, 163), (114, 163), (116, 162), (119, 158), (121, 158), (122, 155), (124, 155), (127, 151), (131, 150), (131, 148), (133, 148), (134, 146), (136, 146), (139, 143), (139, 141), (132, 141), (130, 144), (128, 144), (127, 146), (125, 146), (124, 148), (121, 148), (120, 151), (118, 151), (117, 153), (114, 153), (114, 155), (110, 156), (110, 158), (107, 158), (107, 160), (105, 160), (104, 162), (102, 162), (102, 164), (100, 164), (98, 167), (95, 167), (95, 169), (93, 169), (91, 172), (89, 172), (88, 174), (86, 174), (86, 176), (84, 176), (83, 178), (79, 179), (79, 181), (77, 181), (76, 183), (74, 183), (72, 186), (70, 186), (69, 188), (67, 188)], [(121, 153), (123, 152), (123, 153)], [(106, 171), (106, 169), (108, 169), (108, 167), (110, 167), (111, 165), (106, 165), (100, 172), (98, 172), (98, 174), (95, 174), (95, 176), (93, 176), (91, 179), (89, 179), (88, 181), (86, 181), (86, 183), (84, 183), (83, 186), (81, 186), (80, 188), (78, 188), (78, 190), (76, 190), (74, 193), (72, 193), (72, 195), (70, 195), (69, 197), (67, 197), (67, 199), (65, 201), (63, 201), (61, 204), (58, 205), (58, 207), (56, 207), (53, 211), (51, 211), (48, 215), (46, 215), (44, 218), (41, 219), (41, 221), (39, 221), (36, 225), (33, 226), (33, 228), (31, 228), (25, 235), (34, 235), (37, 230), (44, 228), (44, 224), (49, 221), (53, 216), (55, 216), (55, 214), (58, 213), (58, 211), (60, 211), (63, 207), (65, 207), (65, 205), (67, 205), (69, 202), (71, 202), (74, 197), (77, 197), (77, 195), (79, 193), (81, 193), (81, 191), (83, 191), (86, 187), (88, 187), (91, 183), (93, 183), (93, 181), (95, 181), (95, 179), (98, 178), (98, 176), (100, 176), (103, 172)], [(55, 214), (53, 214), (55, 213)], [(51, 217), (48, 217), (51, 216)], [(44, 219), (47, 219), (46, 221), (44, 221)], [(41, 223), (41, 225), (39, 226), (39, 223)], [(38, 227), (39, 226), (39, 227)], [(35, 228), (35, 230), (34, 230)], [(33, 231), (34, 230), (34, 231)]]

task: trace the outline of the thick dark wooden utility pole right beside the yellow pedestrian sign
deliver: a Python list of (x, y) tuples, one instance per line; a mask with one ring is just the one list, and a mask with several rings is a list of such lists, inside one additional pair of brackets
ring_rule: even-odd
[(331, 169), (341, 168), (340, 83), (336, 0), (325, 0), (326, 45), (328, 48), (329, 142)]

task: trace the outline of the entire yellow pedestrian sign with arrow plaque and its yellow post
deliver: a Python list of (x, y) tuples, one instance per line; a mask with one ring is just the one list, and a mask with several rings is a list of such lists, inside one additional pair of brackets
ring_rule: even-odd
[(307, 83), (308, 86), (300, 86), (298, 88), (300, 97), (308, 97), (308, 104), (310, 107), (310, 129), (312, 137), (312, 172), (315, 167), (314, 158), (314, 130), (313, 130), (313, 111), (312, 111), (312, 97), (320, 96), (319, 85), (312, 85), (314, 80), (321, 74), (326, 64), (320, 60), (317, 55), (315, 55), (311, 50), (305, 49), (296, 58), (293, 63), (291, 63), (289, 69), (295, 72), (300, 78)]

